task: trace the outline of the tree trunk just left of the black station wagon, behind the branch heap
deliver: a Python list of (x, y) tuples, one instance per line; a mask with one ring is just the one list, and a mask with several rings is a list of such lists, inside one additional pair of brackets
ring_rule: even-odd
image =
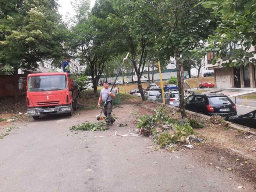
[[(177, 68), (177, 79), (179, 89), (179, 106), (181, 110), (181, 117), (186, 117), (185, 105), (184, 105), (184, 67), (183, 63), (179, 61), (178, 56), (175, 57)], [(181, 65), (181, 66), (179, 66)]]

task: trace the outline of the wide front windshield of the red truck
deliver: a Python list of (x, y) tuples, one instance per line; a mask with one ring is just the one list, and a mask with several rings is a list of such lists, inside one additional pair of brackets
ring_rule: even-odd
[(28, 91), (49, 91), (67, 89), (65, 75), (41, 75), (28, 79)]

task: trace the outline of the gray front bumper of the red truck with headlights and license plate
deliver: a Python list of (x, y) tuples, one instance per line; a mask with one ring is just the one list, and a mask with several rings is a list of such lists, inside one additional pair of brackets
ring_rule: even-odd
[(28, 115), (30, 116), (39, 116), (39, 115), (48, 115), (48, 114), (63, 114), (71, 112), (71, 105), (59, 105), (59, 106), (49, 106), (46, 107), (29, 107)]

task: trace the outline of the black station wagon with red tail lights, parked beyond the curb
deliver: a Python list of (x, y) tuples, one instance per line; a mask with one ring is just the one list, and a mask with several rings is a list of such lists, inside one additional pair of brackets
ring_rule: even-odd
[(220, 115), (225, 118), (237, 115), (237, 107), (232, 100), (223, 93), (196, 93), (188, 96), (185, 109), (205, 115)]

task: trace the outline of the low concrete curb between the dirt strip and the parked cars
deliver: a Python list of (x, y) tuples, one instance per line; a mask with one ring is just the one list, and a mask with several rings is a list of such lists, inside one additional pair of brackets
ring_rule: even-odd
[[(157, 103), (158, 103), (158, 102), (157, 102)], [(160, 104), (160, 103), (159, 103), (159, 104)], [(172, 109), (174, 109), (174, 110), (176, 110), (176, 111), (179, 110), (179, 108), (177, 108), (177, 107), (173, 107), (173, 106), (170, 106), (170, 105), (166, 105), (166, 106), (169, 107), (169, 108), (172, 108)], [(143, 106), (143, 105), (142, 105), (142, 107), (144, 107), (144, 108), (146, 108), (146, 109), (150, 109), (150, 110), (155, 111), (154, 109), (152, 109), (152, 108), (150, 108), (150, 107), (147, 107), (147, 106)], [(186, 110), (186, 113), (193, 114), (193, 115), (199, 115), (200, 117), (205, 118), (205, 119), (210, 119), (210, 116), (203, 115), (203, 114), (200, 114), (200, 113), (195, 113), (195, 112), (193, 112), (193, 111), (188, 111), (188, 110)], [(232, 123), (232, 122), (229, 122), (229, 121), (226, 121), (226, 122), (229, 123), (228, 127), (230, 127), (230, 128), (233, 129), (233, 130), (236, 130), (236, 131), (242, 130), (242, 131), (250, 132), (251, 135), (256, 136), (256, 129), (249, 128), (249, 127), (245, 127), (245, 126), (243, 126), (243, 125), (238, 125), (238, 124), (235, 124), (235, 123)]]

